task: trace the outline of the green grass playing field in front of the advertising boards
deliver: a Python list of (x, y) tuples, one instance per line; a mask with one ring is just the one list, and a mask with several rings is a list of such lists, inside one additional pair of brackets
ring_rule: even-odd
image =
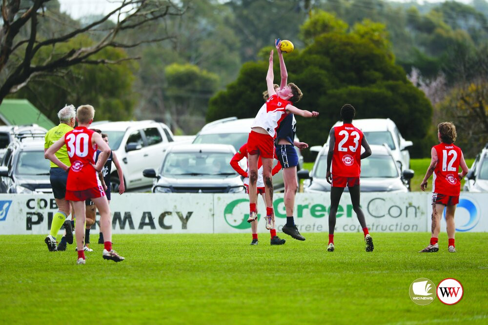
[[(0, 236), (2, 324), (487, 324), (487, 233), (458, 233), (457, 253), (420, 254), (427, 233), (325, 233), (284, 246), (250, 246), (250, 234), (115, 235), (126, 260), (86, 265), (72, 250), (49, 252), (40, 235)], [(92, 241), (96, 241), (95, 234)], [(447, 306), (418, 306), (410, 284), (448, 277), (464, 287)]]

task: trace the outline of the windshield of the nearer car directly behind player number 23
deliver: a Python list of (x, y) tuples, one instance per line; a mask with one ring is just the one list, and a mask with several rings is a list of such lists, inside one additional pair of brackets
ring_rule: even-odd
[[(319, 158), (314, 177), (325, 178), (327, 169), (327, 155), (324, 154)], [(372, 155), (361, 160), (361, 177), (362, 178), (390, 178), (398, 177), (398, 171), (395, 162), (390, 156)]]

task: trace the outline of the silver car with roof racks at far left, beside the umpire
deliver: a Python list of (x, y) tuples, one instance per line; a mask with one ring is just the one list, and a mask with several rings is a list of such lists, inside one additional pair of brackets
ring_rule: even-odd
[(14, 137), (0, 164), (1, 193), (52, 193), (44, 136)]

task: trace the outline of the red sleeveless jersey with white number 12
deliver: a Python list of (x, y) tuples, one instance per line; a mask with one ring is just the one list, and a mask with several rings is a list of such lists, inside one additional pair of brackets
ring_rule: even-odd
[(432, 192), (457, 196), (461, 191), (459, 181), (459, 164), (461, 162), (461, 148), (441, 142), (433, 147), (437, 152), (437, 165), (432, 174)]

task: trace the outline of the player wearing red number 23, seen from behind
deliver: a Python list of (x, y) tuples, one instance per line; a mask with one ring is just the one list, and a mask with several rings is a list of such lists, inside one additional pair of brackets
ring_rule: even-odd
[[(369, 235), (366, 227), (366, 219), (359, 204), (360, 189), (359, 177), (361, 175), (361, 159), (371, 155), (371, 148), (366, 141), (363, 132), (352, 125), (352, 119), (356, 110), (350, 104), (341, 108), (343, 125), (330, 129), (329, 150), (327, 153), (326, 179), (331, 185), (330, 188), (330, 211), (329, 211), (329, 244), (327, 251), (334, 251), (334, 230), (336, 224), (336, 213), (339, 207), (344, 188), (349, 188), (352, 209), (356, 212), (361, 228), (365, 235), (366, 251), (373, 251), (373, 238)], [(361, 153), (361, 147), (365, 149)], [(332, 172), (330, 165), (332, 164)]]

